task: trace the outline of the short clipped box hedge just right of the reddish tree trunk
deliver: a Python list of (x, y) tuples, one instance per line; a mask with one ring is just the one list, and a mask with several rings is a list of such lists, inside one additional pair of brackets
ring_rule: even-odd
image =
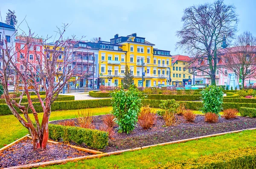
[(108, 146), (108, 132), (57, 124), (49, 124), (48, 129), (49, 138), (55, 141), (60, 139), (66, 143), (73, 141), (76, 144), (85, 144), (95, 149), (104, 149), (105, 146)]

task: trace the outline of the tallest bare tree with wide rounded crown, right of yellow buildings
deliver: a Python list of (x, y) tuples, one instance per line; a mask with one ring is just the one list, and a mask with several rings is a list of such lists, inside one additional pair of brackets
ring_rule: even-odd
[(181, 21), (183, 28), (177, 31), (177, 48), (183, 48), (192, 56), (188, 67), (192, 74), (204, 72), (215, 85), (218, 64), (217, 51), (225, 39), (233, 39), (237, 31), (237, 14), (233, 5), (225, 5), (222, 0), (190, 6), (184, 10)]

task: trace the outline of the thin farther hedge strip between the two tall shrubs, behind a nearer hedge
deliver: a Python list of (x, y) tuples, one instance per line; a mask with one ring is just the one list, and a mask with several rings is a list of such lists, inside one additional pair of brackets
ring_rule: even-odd
[(152, 100), (167, 100), (175, 99), (177, 101), (192, 101), (200, 100), (201, 95), (161, 95), (161, 94), (148, 94), (147, 99)]

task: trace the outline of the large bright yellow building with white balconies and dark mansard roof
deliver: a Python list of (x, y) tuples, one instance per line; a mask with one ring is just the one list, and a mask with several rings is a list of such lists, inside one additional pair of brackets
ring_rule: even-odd
[(102, 85), (121, 85), (126, 65), (134, 75), (137, 87), (167, 85), (171, 68), (170, 51), (154, 49), (154, 44), (137, 37), (137, 34), (126, 37), (116, 34), (110, 40), (99, 42), (99, 78), (102, 78)]

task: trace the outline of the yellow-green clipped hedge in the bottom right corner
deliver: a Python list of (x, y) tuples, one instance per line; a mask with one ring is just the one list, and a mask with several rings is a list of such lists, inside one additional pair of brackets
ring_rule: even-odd
[(253, 169), (255, 166), (256, 147), (250, 146), (183, 161), (167, 162), (153, 169)]

